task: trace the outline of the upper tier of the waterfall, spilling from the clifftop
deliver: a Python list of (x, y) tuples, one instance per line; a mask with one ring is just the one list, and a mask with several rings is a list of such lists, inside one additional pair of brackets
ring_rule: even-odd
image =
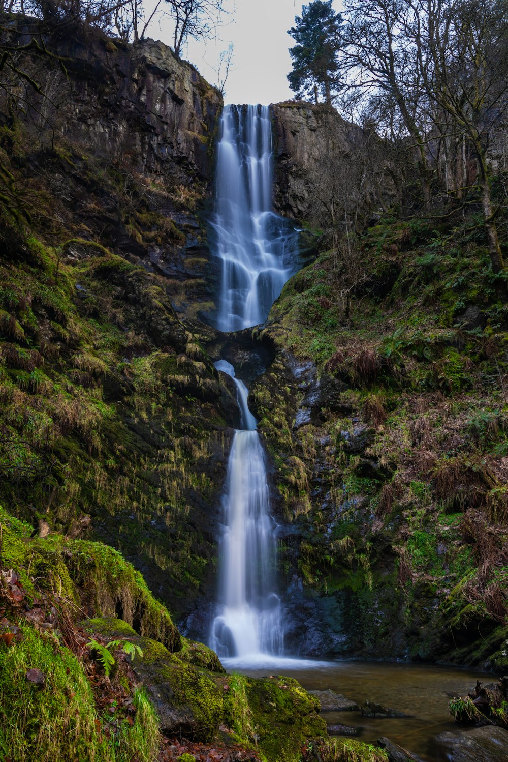
[(271, 210), (268, 106), (225, 106), (217, 154), (212, 227), (221, 293), (214, 322), (220, 331), (240, 331), (268, 317), (294, 272), (294, 227)]

